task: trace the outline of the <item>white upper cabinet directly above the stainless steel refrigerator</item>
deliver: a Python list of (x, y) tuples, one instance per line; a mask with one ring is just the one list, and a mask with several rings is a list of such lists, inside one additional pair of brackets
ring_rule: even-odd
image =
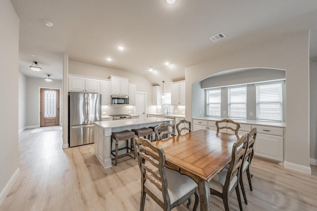
[(100, 81), (97, 79), (69, 76), (68, 91), (99, 93)]

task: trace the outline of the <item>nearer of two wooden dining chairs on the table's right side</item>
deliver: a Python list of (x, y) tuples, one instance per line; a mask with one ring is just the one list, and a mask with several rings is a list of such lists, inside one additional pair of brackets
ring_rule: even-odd
[(232, 154), (229, 169), (223, 169), (220, 174), (209, 182), (211, 195), (220, 197), (223, 201), (225, 211), (229, 211), (229, 197), (235, 189), (239, 208), (242, 211), (242, 204), (239, 191), (239, 173), (240, 167), (248, 145), (248, 136), (242, 136), (232, 146)]

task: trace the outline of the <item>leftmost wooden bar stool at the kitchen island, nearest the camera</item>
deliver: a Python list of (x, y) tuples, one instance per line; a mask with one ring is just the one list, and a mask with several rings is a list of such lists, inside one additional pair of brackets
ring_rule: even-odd
[[(135, 137), (135, 133), (133, 131), (130, 131), (130, 130), (124, 130), (124, 131), (120, 131), (120, 132), (112, 132), (111, 133), (110, 147), (111, 147), (111, 155), (114, 156), (113, 159), (115, 160), (114, 166), (117, 165), (118, 158), (122, 158), (122, 157), (125, 157), (127, 155), (133, 154), (134, 159), (135, 159), (134, 150), (131, 147), (133, 144), (132, 140), (134, 137)], [(115, 150), (112, 150), (112, 139), (115, 140)], [(129, 139), (131, 139), (131, 146), (130, 147), (129, 147)], [(118, 149), (118, 142), (119, 141), (126, 141), (126, 147), (122, 147), (122, 148)], [(126, 149), (127, 152), (122, 154), (122, 155), (118, 155), (118, 151), (124, 150), (124, 149)], [(129, 152), (129, 150), (130, 150), (130, 152)], [(113, 152), (115, 152), (115, 154)]]

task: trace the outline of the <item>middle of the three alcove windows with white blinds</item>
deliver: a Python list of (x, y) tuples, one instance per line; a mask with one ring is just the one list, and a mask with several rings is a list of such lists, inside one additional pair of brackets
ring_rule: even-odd
[(247, 119), (247, 87), (228, 88), (228, 117)]

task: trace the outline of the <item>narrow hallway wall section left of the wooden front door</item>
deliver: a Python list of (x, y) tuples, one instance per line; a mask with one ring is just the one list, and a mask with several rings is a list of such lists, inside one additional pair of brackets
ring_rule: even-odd
[(26, 127), (26, 77), (19, 72), (19, 131)]

